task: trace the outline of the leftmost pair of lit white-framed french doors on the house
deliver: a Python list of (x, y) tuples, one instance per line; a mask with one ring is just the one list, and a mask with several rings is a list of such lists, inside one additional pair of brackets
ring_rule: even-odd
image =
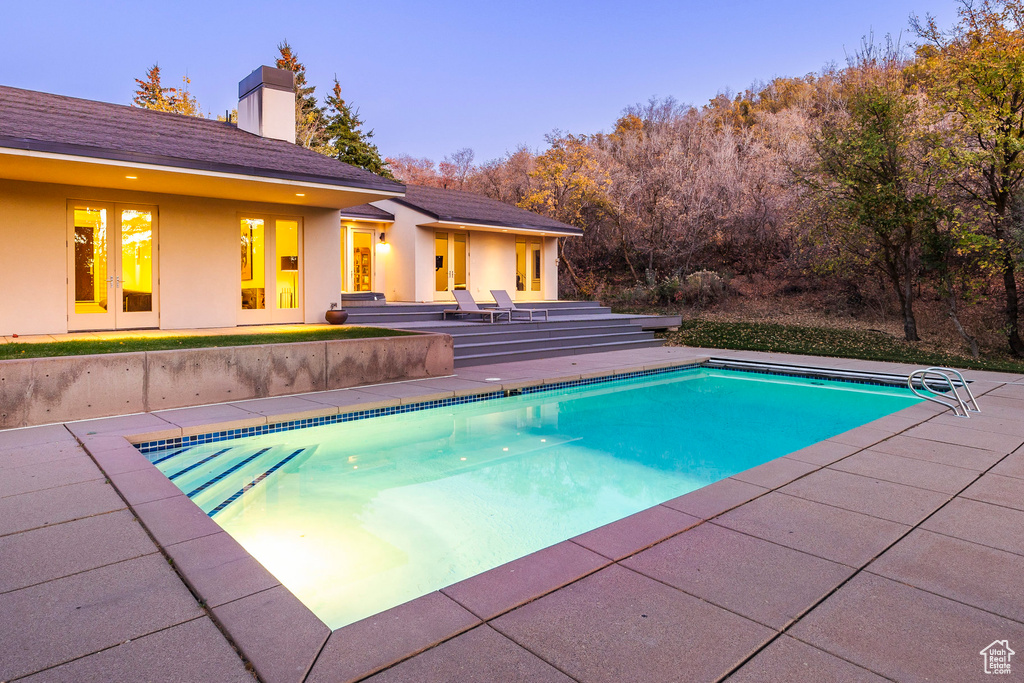
[(160, 327), (157, 208), (70, 202), (68, 330)]

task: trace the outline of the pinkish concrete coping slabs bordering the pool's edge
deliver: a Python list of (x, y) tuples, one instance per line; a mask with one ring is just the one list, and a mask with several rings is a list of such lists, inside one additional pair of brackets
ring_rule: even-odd
[[(614, 371), (512, 379), (502, 391), (675, 369), (711, 356)], [(825, 368), (822, 366), (822, 368)], [(1005, 381), (1005, 380), (1004, 380)], [(1011, 380), (1013, 381), (1013, 380)], [(444, 400), (459, 389), (417, 396)], [(473, 395), (464, 390), (462, 396)], [(373, 410), (413, 404), (390, 397)], [(365, 404), (364, 404), (365, 405)], [(325, 409), (316, 409), (323, 413)], [(334, 415), (341, 414), (341, 407)], [(370, 410), (370, 409), (367, 409)], [(132, 445), (197, 430), (239, 429), (238, 420), (154, 429), (145, 420), (67, 425), (139, 521), (263, 680), (359, 680), (485, 624), (622, 559), (925, 422), (946, 409), (918, 403), (662, 505), (537, 551), (439, 591), (331, 631), (301, 601)], [(330, 415), (330, 411), (328, 412)], [(264, 416), (262, 424), (272, 424)], [(136, 416), (130, 416), (136, 417)], [(141, 417), (141, 416), (139, 416)], [(291, 420), (322, 415), (287, 414)], [(252, 418), (257, 423), (258, 419)], [(101, 428), (97, 423), (106, 423)], [(101, 430), (93, 429), (100, 428)], [(222, 428), (222, 429), (221, 429)], [(283, 622), (287, 617), (287, 622)], [(287, 628), (282, 628), (287, 624)]]

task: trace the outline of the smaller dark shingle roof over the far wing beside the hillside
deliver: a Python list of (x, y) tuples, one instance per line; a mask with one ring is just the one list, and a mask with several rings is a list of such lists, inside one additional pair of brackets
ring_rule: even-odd
[(583, 234), (583, 230), (579, 227), (572, 227), (553, 218), (482, 195), (464, 193), (458, 189), (406, 185), (406, 196), (395, 197), (393, 201), (446, 222), (482, 223), (499, 227), (546, 230), (561, 234)]

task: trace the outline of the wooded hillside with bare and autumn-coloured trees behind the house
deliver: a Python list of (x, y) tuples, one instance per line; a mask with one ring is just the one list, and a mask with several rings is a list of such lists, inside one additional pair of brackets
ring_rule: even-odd
[(567, 297), (1022, 357), (1024, 1), (910, 30), (701, 106), (628, 106), (542, 151), (388, 163), (584, 228), (561, 245)]

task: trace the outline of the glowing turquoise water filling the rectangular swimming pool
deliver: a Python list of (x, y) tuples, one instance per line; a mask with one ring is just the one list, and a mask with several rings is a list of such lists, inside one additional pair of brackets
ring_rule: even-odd
[(915, 402), (695, 369), (147, 457), (337, 629)]

